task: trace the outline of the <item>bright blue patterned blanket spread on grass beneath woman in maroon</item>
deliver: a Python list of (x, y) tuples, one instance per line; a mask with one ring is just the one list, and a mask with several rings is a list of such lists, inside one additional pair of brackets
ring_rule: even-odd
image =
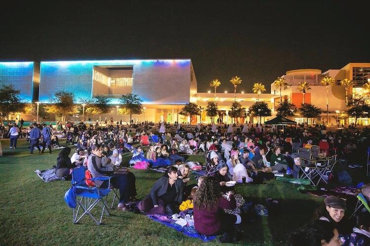
[(192, 237), (192, 238), (199, 238), (201, 240), (203, 240), (204, 242), (209, 242), (209, 241), (212, 241), (216, 238), (216, 236), (206, 236), (206, 235), (202, 235), (202, 234), (199, 234), (196, 230), (195, 230), (195, 227), (194, 226), (184, 226), (182, 227), (181, 225), (179, 224), (176, 224), (174, 222), (174, 220), (172, 219), (163, 219), (163, 215), (147, 215), (148, 218), (154, 220), (154, 221), (157, 221), (165, 226), (168, 226), (170, 228), (173, 228), (179, 232), (182, 232), (183, 234), (185, 234), (186, 236), (188, 237)]

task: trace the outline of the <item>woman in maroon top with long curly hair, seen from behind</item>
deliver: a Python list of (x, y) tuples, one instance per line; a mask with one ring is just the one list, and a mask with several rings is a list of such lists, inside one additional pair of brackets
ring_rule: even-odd
[(221, 235), (221, 243), (234, 240), (235, 224), (241, 223), (240, 215), (225, 214), (223, 209), (236, 208), (232, 191), (222, 196), (219, 181), (215, 177), (204, 177), (194, 197), (194, 226), (204, 235)]

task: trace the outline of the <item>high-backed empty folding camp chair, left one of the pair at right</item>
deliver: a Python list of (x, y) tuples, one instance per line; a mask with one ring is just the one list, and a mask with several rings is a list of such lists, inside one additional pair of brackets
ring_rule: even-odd
[[(312, 185), (318, 185), (321, 180), (328, 183), (323, 177), (328, 169), (327, 165), (321, 166), (321, 164), (318, 165), (319, 160), (312, 160), (311, 150), (308, 148), (299, 149), (298, 154), (299, 170), (302, 171), (301, 176), (299, 176), (298, 171), (298, 178), (308, 179)], [(316, 178), (318, 178), (317, 182), (314, 181)]]

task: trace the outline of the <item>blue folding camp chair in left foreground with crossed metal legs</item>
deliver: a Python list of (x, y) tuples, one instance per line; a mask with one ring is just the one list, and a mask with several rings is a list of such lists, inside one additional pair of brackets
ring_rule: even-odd
[[(73, 209), (73, 222), (77, 223), (83, 216), (90, 215), (90, 217), (100, 225), (102, 223), (103, 215), (108, 212), (107, 206), (107, 195), (111, 191), (111, 178), (108, 176), (96, 177), (90, 179), (91, 181), (109, 181), (108, 188), (99, 188), (97, 186), (90, 187), (85, 183), (85, 171), (84, 167), (74, 168), (72, 171), (72, 188), (76, 196), (76, 202), (78, 203), (78, 208)], [(106, 198), (104, 200), (104, 197)], [(91, 213), (92, 209), (98, 205), (101, 209), (100, 220), (98, 221)], [(82, 215), (78, 216), (78, 213), (82, 210)]]

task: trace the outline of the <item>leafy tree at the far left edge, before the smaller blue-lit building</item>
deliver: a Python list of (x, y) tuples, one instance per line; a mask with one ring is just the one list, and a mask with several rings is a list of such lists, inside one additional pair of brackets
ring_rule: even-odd
[(15, 90), (12, 85), (0, 88), (0, 116), (8, 119), (10, 112), (22, 112), (26, 106), (19, 97), (21, 91)]

